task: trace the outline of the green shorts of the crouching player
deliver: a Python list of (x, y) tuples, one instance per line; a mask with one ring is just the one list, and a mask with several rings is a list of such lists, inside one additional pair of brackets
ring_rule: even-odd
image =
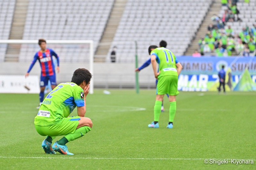
[(68, 135), (75, 132), (76, 127), (78, 125), (78, 120), (80, 120), (80, 116), (74, 117), (65, 117), (56, 124), (49, 125), (49, 126), (40, 126), (35, 125), (36, 131), (42, 136), (62, 136)]

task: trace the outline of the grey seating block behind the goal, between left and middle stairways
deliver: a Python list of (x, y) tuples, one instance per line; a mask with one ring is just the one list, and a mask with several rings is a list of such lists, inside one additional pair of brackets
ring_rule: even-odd
[[(30, 0), (23, 39), (93, 40), (96, 51), (114, 0)], [(65, 11), (65, 12), (63, 12)], [(47, 45), (63, 62), (88, 61), (88, 45)], [(78, 48), (83, 47), (83, 48)], [(38, 45), (22, 45), (19, 61), (31, 61)]]

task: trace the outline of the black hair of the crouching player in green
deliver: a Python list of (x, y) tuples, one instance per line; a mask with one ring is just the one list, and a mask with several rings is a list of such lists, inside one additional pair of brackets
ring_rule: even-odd
[(81, 83), (83, 83), (83, 81), (85, 81), (85, 83), (88, 84), (91, 81), (91, 78), (92, 74), (89, 70), (84, 68), (76, 69), (72, 76), (71, 82), (80, 85)]

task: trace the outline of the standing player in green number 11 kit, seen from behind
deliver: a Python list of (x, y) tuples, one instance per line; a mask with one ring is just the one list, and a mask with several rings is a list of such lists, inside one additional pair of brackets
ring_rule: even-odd
[[(176, 113), (176, 96), (179, 94), (178, 76), (182, 70), (182, 65), (178, 62), (172, 51), (167, 48), (158, 48), (157, 46), (152, 45), (149, 46), (148, 53), (151, 55), (151, 63), (155, 78), (158, 79), (156, 86), (156, 102), (154, 106), (154, 122), (149, 124), (148, 127), (159, 128), (158, 121), (164, 94), (169, 94), (170, 115), (167, 128), (172, 128)], [(156, 63), (159, 64), (159, 72), (157, 72)]]

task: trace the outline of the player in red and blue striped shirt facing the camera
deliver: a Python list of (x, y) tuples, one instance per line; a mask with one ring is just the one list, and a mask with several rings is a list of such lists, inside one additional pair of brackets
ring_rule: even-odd
[(40, 46), (41, 50), (36, 52), (34, 59), (31, 62), (25, 77), (28, 77), (29, 72), (35, 65), (36, 61), (38, 60), (42, 69), (41, 78), (40, 78), (40, 94), (39, 94), (39, 100), (40, 100), (39, 107), (40, 107), (40, 105), (44, 100), (44, 89), (45, 89), (45, 86), (48, 85), (48, 80), (50, 80), (51, 82), (52, 89), (56, 87), (56, 74), (55, 74), (55, 67), (52, 60), (52, 56), (54, 55), (57, 59), (56, 70), (58, 72), (60, 71), (60, 67), (59, 67), (60, 61), (59, 61), (59, 56), (52, 49), (46, 48), (46, 41), (44, 39), (39, 39), (38, 45)]

